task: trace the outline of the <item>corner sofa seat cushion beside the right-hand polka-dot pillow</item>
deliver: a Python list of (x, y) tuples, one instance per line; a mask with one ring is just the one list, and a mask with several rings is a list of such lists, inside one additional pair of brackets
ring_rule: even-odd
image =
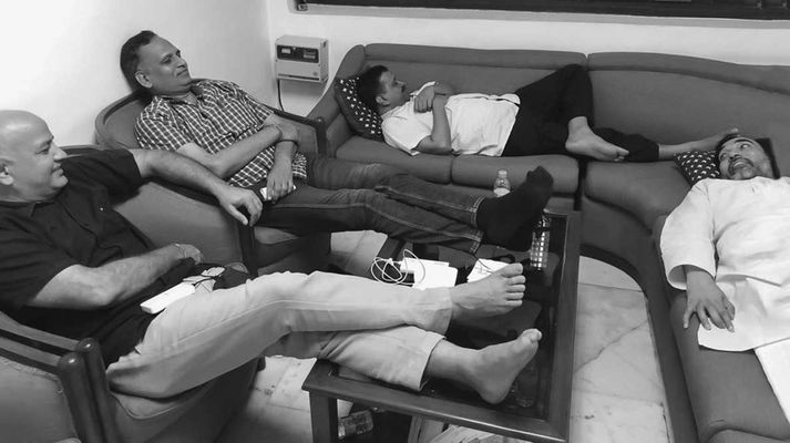
[(633, 214), (646, 229), (669, 214), (689, 188), (674, 162), (591, 162), (584, 183), (585, 195)]

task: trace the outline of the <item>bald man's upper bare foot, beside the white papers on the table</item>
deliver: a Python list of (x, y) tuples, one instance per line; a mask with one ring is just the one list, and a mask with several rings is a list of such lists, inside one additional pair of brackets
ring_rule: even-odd
[(452, 319), (491, 317), (520, 307), (525, 289), (522, 271), (521, 264), (512, 264), (481, 280), (451, 288)]

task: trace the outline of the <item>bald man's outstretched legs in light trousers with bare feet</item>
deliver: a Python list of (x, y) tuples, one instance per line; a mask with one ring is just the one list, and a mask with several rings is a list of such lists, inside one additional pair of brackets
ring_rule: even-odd
[[(540, 332), (482, 350), (459, 348), (441, 333), (451, 319), (520, 306), (521, 271), (521, 265), (510, 265), (473, 284), (425, 291), (322, 272), (259, 277), (170, 306), (135, 350), (110, 365), (107, 378), (119, 391), (164, 398), (279, 347), (413, 389), (424, 375), (448, 378), (486, 401), (501, 401), (534, 356)], [(393, 342), (402, 350), (381, 344)], [(492, 373), (497, 377), (486, 377)]]

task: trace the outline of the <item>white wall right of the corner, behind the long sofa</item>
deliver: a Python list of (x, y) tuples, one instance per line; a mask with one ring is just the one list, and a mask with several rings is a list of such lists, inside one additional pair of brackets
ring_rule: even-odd
[[(270, 40), (281, 34), (329, 39), (331, 74), (349, 48), (371, 42), (584, 53), (646, 51), (790, 65), (790, 21), (315, 6), (305, 13), (295, 12), (290, 3), (269, 2)], [(269, 87), (274, 87), (271, 82)], [(284, 82), (283, 91), (286, 110), (301, 114), (309, 112), (321, 93), (320, 87), (290, 81)]]

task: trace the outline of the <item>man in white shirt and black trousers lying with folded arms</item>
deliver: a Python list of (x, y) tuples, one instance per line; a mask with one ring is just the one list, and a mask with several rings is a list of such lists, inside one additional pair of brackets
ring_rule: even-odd
[(444, 82), (429, 82), (408, 94), (406, 83), (382, 65), (365, 71), (357, 84), (360, 101), (381, 115), (387, 144), (411, 155), (572, 153), (602, 161), (654, 162), (712, 150), (733, 132), (661, 145), (638, 134), (591, 128), (593, 89), (578, 64), (505, 95), (455, 94)]

